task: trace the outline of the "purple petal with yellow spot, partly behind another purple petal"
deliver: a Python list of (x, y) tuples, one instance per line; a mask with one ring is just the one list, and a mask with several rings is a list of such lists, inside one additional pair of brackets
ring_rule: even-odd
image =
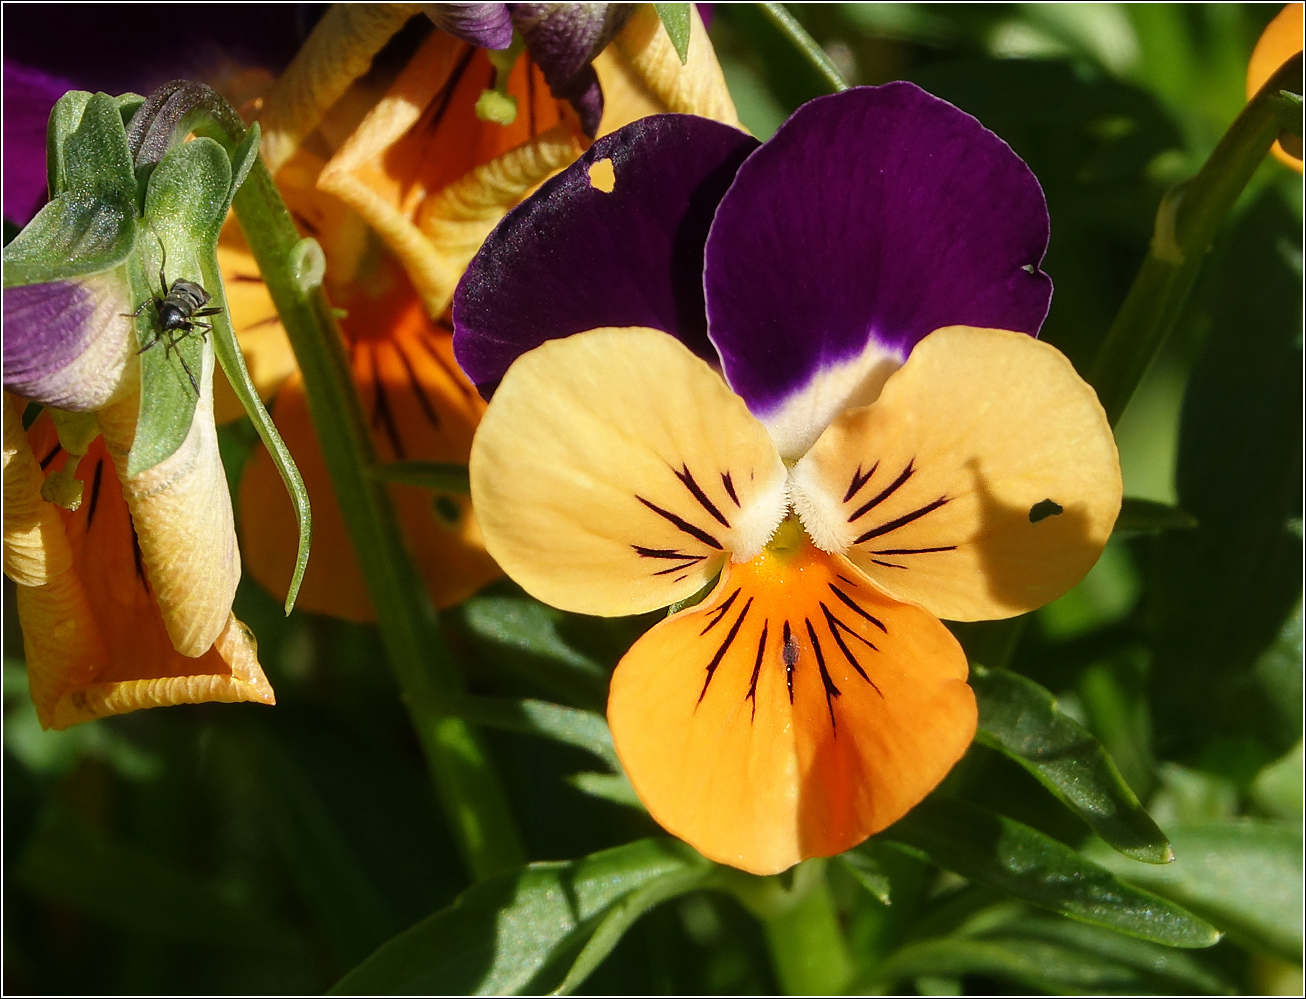
[[(482, 394), (528, 350), (601, 326), (661, 329), (714, 360), (703, 243), (756, 146), (718, 121), (653, 115), (599, 138), (515, 208), (453, 296), (453, 349)], [(603, 161), (615, 178), (610, 192), (596, 185)]]

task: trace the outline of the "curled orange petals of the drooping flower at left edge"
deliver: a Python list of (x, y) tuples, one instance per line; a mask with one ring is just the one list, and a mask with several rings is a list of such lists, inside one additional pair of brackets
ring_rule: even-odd
[[(135, 400), (131, 404), (135, 407)], [(104, 714), (170, 704), (273, 704), (253, 636), (230, 611), (217, 640), (188, 654), (174, 648), (165, 624), (155, 580), (163, 586), (184, 584), (188, 562), (205, 563), (202, 552), (189, 560), (176, 555), (193, 554), (189, 534), (204, 528), (188, 522), (184, 508), (206, 477), (175, 477), (168, 460), (146, 473), (149, 482), (132, 482), (133, 492), (153, 488), (161, 501), (182, 509), (182, 516), (144, 518), (154, 525), (155, 548), (174, 555), (162, 556), (167, 571), (159, 572), (142, 554), (119, 478), (125, 451), (115, 453), (106, 436), (97, 436), (73, 473), (82, 483), (82, 501), (74, 511), (63, 509), (43, 500), (40, 487), (64, 470), (68, 456), (48, 413), (29, 431), (22, 428), (21, 413), (21, 402), (5, 393), (4, 569), (18, 584), (27, 676), (42, 726), (65, 729)], [(115, 440), (120, 437), (115, 418), (120, 417), (121, 407), (101, 414), (102, 427)], [(128, 419), (135, 422), (129, 414)], [(129, 441), (131, 434), (125, 436)], [(206, 452), (183, 444), (178, 452), (183, 464), (187, 458), (193, 464), (192, 451)], [(222, 475), (221, 465), (217, 474)], [(183, 488), (174, 488), (179, 483)], [(135, 495), (133, 501), (140, 516), (141, 504), (150, 499)]]

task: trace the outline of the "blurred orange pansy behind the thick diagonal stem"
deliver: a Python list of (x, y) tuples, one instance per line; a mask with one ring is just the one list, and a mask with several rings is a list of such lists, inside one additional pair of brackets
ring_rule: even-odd
[[(648, 5), (517, 4), (511, 17), (502, 4), (428, 7), (445, 30), (410, 38), (415, 51), (401, 65), (372, 57), (406, 14), (333, 8), (251, 110), (300, 230), (325, 251), (326, 293), (380, 460), (465, 464), (485, 404), (453, 360), (448, 307), (485, 236), (596, 131), (667, 110), (738, 119), (696, 14), (682, 64)], [(525, 51), (505, 60), (492, 50), (513, 26)], [(515, 102), (511, 120), (485, 116), (487, 91)], [(234, 229), (219, 256), (251, 373), (261, 393), (276, 393), (277, 426), (312, 498), (313, 555), (298, 606), (371, 620), (272, 299)], [(234, 397), (219, 394), (219, 420), (236, 415)], [(465, 495), (396, 483), (390, 496), (438, 606), (499, 575)], [(285, 593), (294, 515), (263, 449), (246, 468), (239, 507), (251, 573)]]

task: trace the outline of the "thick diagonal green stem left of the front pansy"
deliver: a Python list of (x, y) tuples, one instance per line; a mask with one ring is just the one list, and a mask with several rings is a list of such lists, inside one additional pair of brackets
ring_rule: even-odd
[(385, 483), (371, 474), (372, 439), (343, 341), (320, 285), (294, 273), (299, 243), (259, 159), (235, 197), (236, 217), (290, 336), (336, 499), (367, 582), (390, 667), (426, 753), (436, 793), (473, 876), (520, 866), (525, 854), (499, 777), (475, 729), (432, 705), (464, 690), (435, 610), (400, 535)]

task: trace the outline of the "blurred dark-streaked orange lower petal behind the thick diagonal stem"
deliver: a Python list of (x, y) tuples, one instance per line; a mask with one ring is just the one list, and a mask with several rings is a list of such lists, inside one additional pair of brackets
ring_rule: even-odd
[[(346, 333), (368, 311), (351, 309)], [(353, 340), (354, 377), (381, 461), (466, 464), (485, 404), (453, 360), (452, 336), (431, 325), (421, 303), (372, 313), (385, 338)], [(277, 396), (273, 415), (295, 456), (313, 508), (313, 548), (296, 606), (346, 620), (376, 619), (296, 375)], [(390, 499), (431, 601), (448, 607), (500, 575), (485, 550), (466, 496), (392, 486)], [(246, 563), (283, 597), (295, 564), (295, 518), (281, 477), (259, 448), (240, 482)]]

